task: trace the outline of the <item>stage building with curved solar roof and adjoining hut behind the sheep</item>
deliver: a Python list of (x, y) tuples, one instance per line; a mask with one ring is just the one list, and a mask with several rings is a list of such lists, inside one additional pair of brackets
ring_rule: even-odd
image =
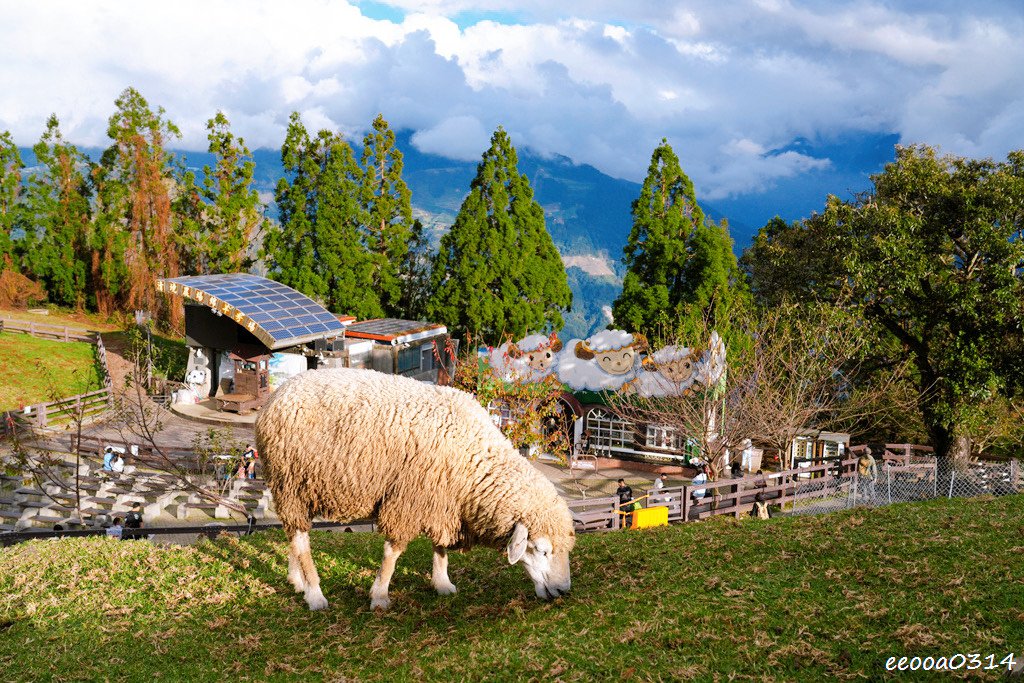
[(185, 383), (197, 400), (216, 399), (221, 410), (258, 408), (289, 377), (319, 368), (367, 368), (440, 383), (454, 372), (458, 345), (442, 325), (357, 322), (248, 273), (159, 280), (157, 291), (184, 300)]

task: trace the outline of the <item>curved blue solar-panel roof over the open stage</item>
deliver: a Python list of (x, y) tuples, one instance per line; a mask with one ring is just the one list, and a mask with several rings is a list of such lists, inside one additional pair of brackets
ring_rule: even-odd
[(336, 315), (305, 294), (248, 273), (158, 280), (157, 291), (206, 304), (229, 316), (270, 349), (337, 337), (345, 330)]

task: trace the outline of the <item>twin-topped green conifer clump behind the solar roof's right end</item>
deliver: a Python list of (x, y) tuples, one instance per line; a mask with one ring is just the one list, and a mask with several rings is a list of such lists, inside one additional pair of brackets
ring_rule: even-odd
[(281, 156), (281, 223), (263, 244), (270, 276), (331, 310), (379, 317), (384, 311), (374, 289), (374, 262), (359, 231), (362, 173), (351, 146), (327, 130), (310, 138), (295, 113)]

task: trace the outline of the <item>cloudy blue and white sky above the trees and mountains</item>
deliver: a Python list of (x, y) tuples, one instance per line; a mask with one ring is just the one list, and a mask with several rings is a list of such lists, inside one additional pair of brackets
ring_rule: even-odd
[(639, 180), (666, 137), (698, 198), (737, 205), (864, 177), (887, 155), (860, 141), (1024, 146), (1020, 0), (0, 0), (0, 130), (25, 145), (51, 112), (104, 145), (132, 85), (186, 150), (217, 110), (270, 148), (292, 111), (351, 136), (382, 112), (423, 152), (476, 159), (502, 125)]

